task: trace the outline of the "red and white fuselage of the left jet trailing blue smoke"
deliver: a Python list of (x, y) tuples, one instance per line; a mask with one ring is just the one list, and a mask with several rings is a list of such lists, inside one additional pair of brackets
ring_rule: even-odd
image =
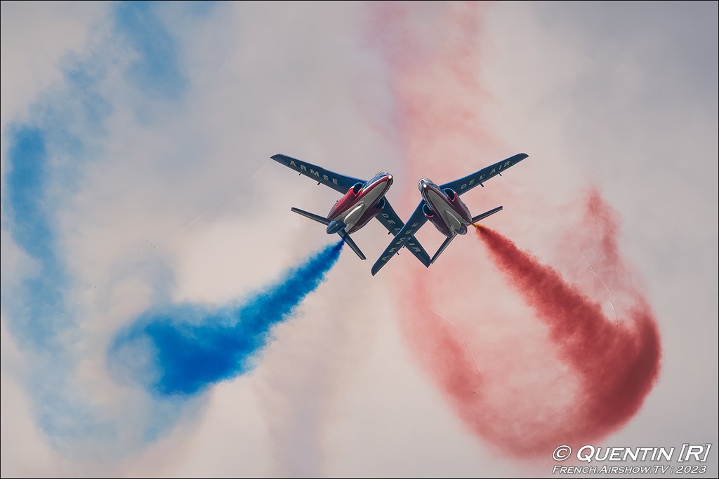
[(327, 233), (334, 234), (344, 228), (347, 234), (351, 234), (375, 218), (382, 211), (384, 197), (392, 181), (392, 175), (379, 172), (372, 180), (349, 188), (329, 210)]

